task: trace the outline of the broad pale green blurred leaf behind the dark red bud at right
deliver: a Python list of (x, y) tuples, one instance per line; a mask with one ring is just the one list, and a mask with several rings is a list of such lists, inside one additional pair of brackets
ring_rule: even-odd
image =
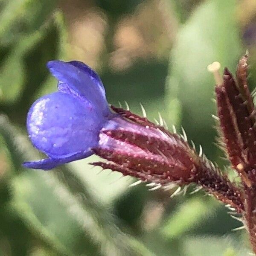
[(215, 82), (207, 72), (207, 65), (219, 61), (232, 71), (236, 67), (242, 53), (236, 3), (236, 0), (207, 0), (198, 6), (178, 32), (170, 58), (167, 87), (170, 91), (173, 87), (178, 89), (182, 125), (188, 137), (202, 144), (210, 158), (215, 155), (211, 117), (215, 113), (212, 102)]

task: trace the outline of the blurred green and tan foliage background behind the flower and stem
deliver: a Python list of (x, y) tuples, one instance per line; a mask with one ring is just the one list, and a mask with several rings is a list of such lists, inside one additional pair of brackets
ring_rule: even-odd
[[(23, 169), (44, 157), (26, 113), (56, 90), (46, 62), (80, 60), (102, 77), (108, 101), (182, 125), (220, 166), (212, 61), (235, 71), (249, 49), (256, 85), (255, 0), (0, 0), (0, 255), (241, 256), (250, 248), (229, 210), (203, 192), (173, 198), (90, 157), (53, 171)], [(79, 139), (79, 138), (78, 138)]]

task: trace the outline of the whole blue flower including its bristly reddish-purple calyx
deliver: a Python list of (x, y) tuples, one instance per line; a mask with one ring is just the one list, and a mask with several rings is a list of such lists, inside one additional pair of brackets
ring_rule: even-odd
[[(156, 184), (187, 180), (198, 157), (179, 136), (128, 110), (111, 106), (99, 76), (79, 61), (49, 61), (58, 92), (30, 108), (27, 130), (35, 148), (48, 158), (25, 162), (49, 170), (96, 154), (92, 163)], [(198, 167), (199, 168), (199, 167)]]

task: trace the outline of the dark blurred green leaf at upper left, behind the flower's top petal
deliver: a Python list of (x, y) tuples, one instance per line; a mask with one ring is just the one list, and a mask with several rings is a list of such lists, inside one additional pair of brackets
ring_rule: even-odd
[(19, 118), (26, 116), (35, 93), (47, 81), (47, 61), (58, 58), (63, 52), (62, 23), (61, 15), (55, 13), (50, 23), (24, 36), (1, 65), (0, 105), (16, 122), (24, 122)]

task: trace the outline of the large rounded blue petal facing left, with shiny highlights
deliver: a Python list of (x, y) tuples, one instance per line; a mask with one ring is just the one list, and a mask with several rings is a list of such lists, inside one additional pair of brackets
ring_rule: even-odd
[(105, 122), (89, 101), (57, 92), (32, 105), (27, 129), (36, 148), (49, 157), (65, 158), (96, 146)]

